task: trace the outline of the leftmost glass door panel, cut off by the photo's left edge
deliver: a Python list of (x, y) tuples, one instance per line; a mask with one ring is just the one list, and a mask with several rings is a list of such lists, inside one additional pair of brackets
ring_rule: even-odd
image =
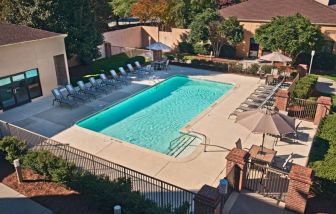
[(4, 110), (16, 106), (16, 101), (12, 89), (12, 81), (10, 77), (0, 79), (0, 101), (1, 107)]

